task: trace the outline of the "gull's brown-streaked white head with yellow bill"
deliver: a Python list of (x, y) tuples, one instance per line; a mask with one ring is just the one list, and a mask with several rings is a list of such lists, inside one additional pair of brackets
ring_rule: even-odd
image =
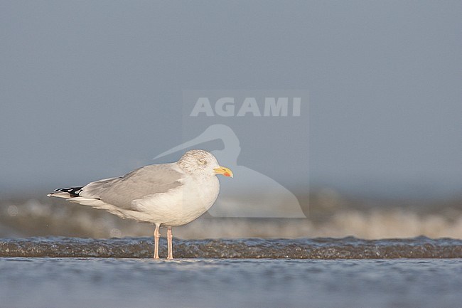
[(222, 174), (232, 177), (232, 171), (230, 169), (220, 166), (212, 153), (202, 149), (192, 149), (186, 152), (181, 156), (178, 165), (189, 174), (203, 174), (205, 176)]

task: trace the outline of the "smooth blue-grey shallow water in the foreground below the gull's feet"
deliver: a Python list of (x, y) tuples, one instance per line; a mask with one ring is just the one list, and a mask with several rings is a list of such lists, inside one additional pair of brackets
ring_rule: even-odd
[(0, 258), (0, 307), (460, 307), (462, 259)]

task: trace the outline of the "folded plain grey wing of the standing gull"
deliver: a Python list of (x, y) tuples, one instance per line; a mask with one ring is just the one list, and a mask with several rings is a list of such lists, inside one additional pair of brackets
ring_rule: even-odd
[(82, 188), (80, 196), (132, 209), (131, 201), (181, 186), (184, 174), (173, 169), (173, 164), (144, 166), (119, 178), (92, 182)]

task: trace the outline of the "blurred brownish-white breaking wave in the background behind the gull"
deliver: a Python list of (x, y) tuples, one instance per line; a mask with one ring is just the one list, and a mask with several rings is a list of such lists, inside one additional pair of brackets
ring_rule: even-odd
[[(436, 210), (435, 210), (436, 209)], [(104, 211), (63, 201), (2, 201), (0, 237), (66, 236), (122, 238), (149, 236), (148, 223), (122, 220)], [(462, 238), (459, 203), (434, 210), (421, 207), (318, 206), (308, 218), (210, 218), (173, 228), (183, 239), (206, 238)]]

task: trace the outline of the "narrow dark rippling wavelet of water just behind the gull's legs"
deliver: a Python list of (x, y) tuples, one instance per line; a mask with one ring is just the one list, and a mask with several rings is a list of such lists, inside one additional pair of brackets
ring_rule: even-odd
[[(180, 258), (379, 259), (462, 257), (462, 240), (358, 238), (173, 240)], [(0, 238), (0, 257), (144, 257), (153, 256), (153, 238)], [(161, 238), (160, 255), (166, 256)]]

